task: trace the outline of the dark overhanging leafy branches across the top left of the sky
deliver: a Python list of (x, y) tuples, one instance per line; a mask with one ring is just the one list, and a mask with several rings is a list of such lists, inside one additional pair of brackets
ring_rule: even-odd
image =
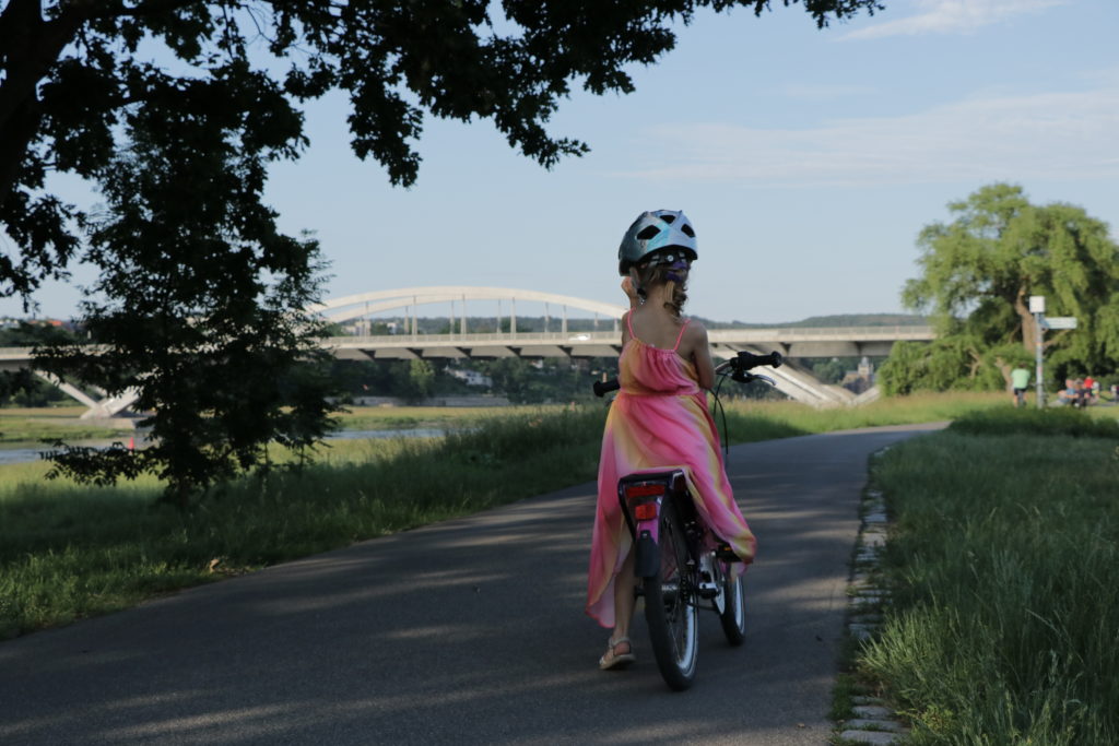
[[(341, 89), (355, 153), (383, 164), (393, 183), (416, 178), (425, 113), (491, 120), (510, 145), (552, 166), (586, 150), (545, 130), (573, 81), (595, 94), (630, 92), (624, 67), (671, 49), (674, 18), (688, 21), (708, 6), (760, 15), (769, 4), (9, 0), (0, 10), (0, 230), (18, 254), (0, 256), (0, 293), (28, 301), (43, 278), (65, 275), (78, 251), (81, 213), (50, 192), (48, 176), (104, 183), (122, 125), (153, 110), (266, 122), (282, 136), (276, 154), (295, 158), (305, 144), (299, 104)], [(819, 26), (876, 8), (877, 0), (805, 0)], [(502, 15), (508, 22), (495, 23)], [(275, 144), (243, 142), (250, 151)]]

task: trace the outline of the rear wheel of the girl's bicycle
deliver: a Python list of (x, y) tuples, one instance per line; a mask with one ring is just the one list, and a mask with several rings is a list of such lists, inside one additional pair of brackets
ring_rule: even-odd
[(683, 691), (696, 677), (699, 608), (684, 523), (671, 500), (661, 506), (659, 532), (660, 572), (645, 578), (645, 618), (660, 674), (669, 687)]

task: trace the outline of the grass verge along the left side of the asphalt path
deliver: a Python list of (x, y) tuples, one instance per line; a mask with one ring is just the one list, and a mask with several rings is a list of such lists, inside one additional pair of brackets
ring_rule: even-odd
[[(727, 414), (730, 440), (745, 442), (946, 419), (991, 406), (989, 396), (956, 395), (863, 410), (732, 403)], [(399, 408), (378, 425), (404, 418), (430, 425), (439, 415), (451, 434), (336, 441), (302, 473), (232, 483), (188, 512), (157, 503), (153, 479), (90, 488), (45, 482), (43, 463), (0, 468), (0, 638), (595, 475), (604, 407), (432, 409)]]

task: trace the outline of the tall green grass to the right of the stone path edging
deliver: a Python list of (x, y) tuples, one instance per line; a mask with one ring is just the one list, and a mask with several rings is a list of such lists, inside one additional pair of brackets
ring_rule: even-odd
[(914, 744), (1119, 743), (1119, 425), (993, 410), (875, 461), (893, 605), (858, 658)]

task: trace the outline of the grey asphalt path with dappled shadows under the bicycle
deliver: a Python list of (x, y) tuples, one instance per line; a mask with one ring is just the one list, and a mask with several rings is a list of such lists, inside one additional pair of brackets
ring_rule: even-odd
[(584, 484), (0, 643), (0, 744), (822, 744), (868, 455), (933, 426), (735, 446), (747, 635), (668, 690), (601, 672)]

